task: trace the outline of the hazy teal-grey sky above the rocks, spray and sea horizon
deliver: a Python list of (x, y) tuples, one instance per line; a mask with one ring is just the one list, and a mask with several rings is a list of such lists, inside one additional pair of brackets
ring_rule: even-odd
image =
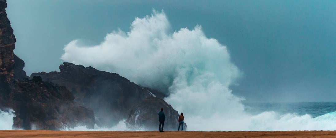
[(63, 48), (130, 31), (135, 17), (166, 14), (168, 31), (201, 26), (241, 72), (230, 86), (246, 102), (336, 101), (336, 1), (8, 0), (14, 53), (34, 72), (59, 71)]

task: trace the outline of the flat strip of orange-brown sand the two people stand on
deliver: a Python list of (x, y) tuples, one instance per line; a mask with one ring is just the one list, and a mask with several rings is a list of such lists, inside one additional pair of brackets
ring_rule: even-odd
[(1, 130), (0, 137), (5, 138), (335, 138), (336, 131), (50, 131), (50, 130)]

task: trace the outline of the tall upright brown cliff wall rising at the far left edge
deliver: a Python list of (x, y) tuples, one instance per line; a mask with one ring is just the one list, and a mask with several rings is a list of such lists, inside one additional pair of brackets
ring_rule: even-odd
[(0, 0), (0, 82), (8, 83), (13, 77), (13, 50), (16, 39), (7, 18), (6, 7), (6, 0)]

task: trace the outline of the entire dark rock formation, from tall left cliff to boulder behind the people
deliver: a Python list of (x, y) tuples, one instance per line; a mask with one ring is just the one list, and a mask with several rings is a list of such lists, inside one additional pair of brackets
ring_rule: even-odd
[(6, 7), (6, 0), (0, 0), (0, 109), (15, 111), (13, 127), (111, 127), (127, 119), (130, 128), (157, 130), (157, 111), (163, 107), (165, 130), (176, 129), (178, 113), (163, 100), (165, 94), (136, 85), (119, 74), (64, 63), (59, 66), (60, 72), (34, 73), (31, 80), (27, 79), (24, 61), (13, 54), (16, 40)]

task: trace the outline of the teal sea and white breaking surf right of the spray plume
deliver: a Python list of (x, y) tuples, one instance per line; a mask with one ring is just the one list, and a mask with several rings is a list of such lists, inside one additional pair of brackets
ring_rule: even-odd
[(336, 130), (336, 102), (244, 105), (250, 118), (241, 129), (248, 131)]

